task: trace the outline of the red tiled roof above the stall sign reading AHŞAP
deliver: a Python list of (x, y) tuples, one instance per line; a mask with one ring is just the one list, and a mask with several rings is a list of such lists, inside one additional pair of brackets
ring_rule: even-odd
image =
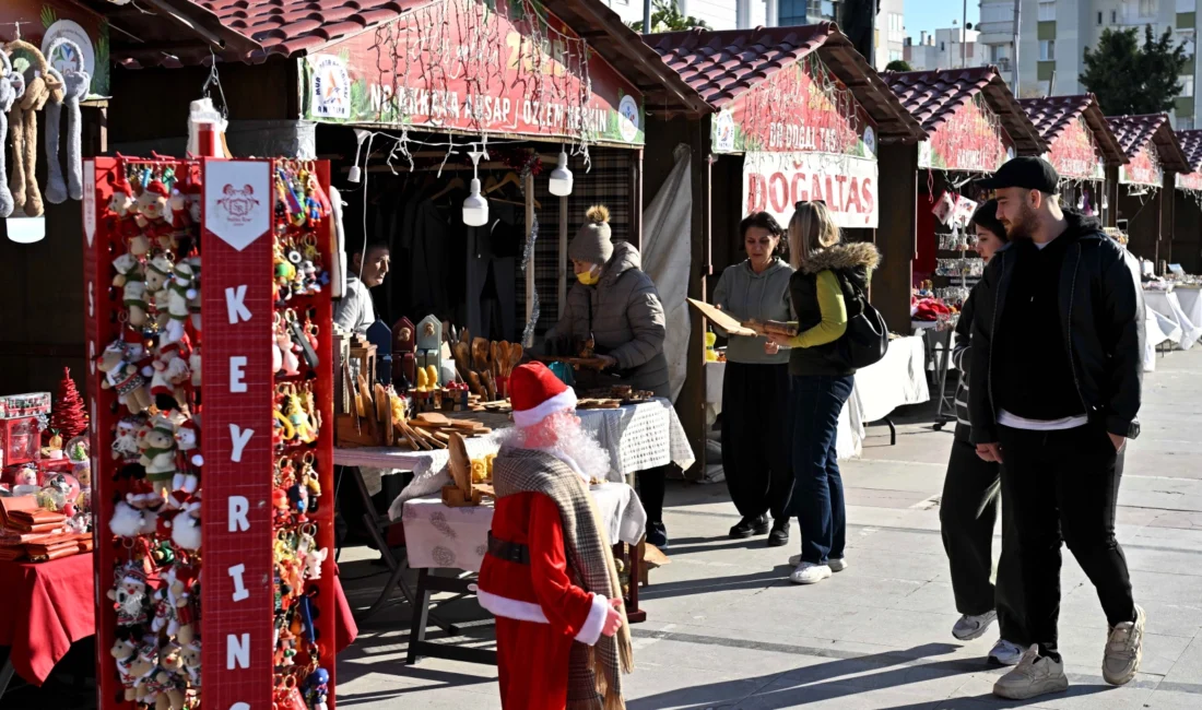
[[(113, 37), (114, 61), (137, 68), (207, 64), (210, 49), (222, 61), (249, 64), (305, 56), (442, 0), (144, 0), (137, 7), (79, 1), (120, 30)], [(557, 0), (547, 6), (649, 102), (706, 111), (704, 101), (603, 4)]]

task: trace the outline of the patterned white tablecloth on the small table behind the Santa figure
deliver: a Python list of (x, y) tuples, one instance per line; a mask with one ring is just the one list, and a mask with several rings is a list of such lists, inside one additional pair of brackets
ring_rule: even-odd
[[(638, 544), (647, 527), (643, 503), (625, 483), (593, 487), (593, 499), (613, 543)], [(480, 572), (493, 527), (493, 506), (450, 508), (436, 497), (405, 503), (405, 551), (413, 568), (451, 567)]]

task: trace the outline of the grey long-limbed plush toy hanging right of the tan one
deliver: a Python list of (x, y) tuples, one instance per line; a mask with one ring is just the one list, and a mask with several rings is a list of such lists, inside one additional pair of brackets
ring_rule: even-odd
[[(83, 50), (66, 37), (59, 37), (48, 48), (47, 55), (53, 58), (60, 48), (70, 50), (77, 58), (79, 68), (67, 68), (65, 73), (50, 68), (52, 85), (50, 106), (46, 108), (46, 159), (49, 161), (49, 178), (46, 185), (46, 199), (52, 204), (71, 199), (83, 199), (83, 124), (79, 114), (79, 102), (88, 96), (91, 86), (91, 74), (83, 66)], [(67, 114), (67, 173), (63, 179), (59, 165), (59, 133), (63, 108)]]

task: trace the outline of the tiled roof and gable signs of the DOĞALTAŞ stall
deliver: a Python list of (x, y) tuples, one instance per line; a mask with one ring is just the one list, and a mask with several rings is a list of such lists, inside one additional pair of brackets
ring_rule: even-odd
[(716, 114), (709, 151), (743, 155), (744, 211), (787, 220), (822, 199), (841, 227), (877, 226), (879, 142), (926, 135), (834, 24), (645, 41)]

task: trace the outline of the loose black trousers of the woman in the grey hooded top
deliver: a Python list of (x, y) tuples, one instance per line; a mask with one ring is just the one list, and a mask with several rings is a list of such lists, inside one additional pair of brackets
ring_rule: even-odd
[(722, 470), (744, 518), (787, 517), (793, 493), (789, 441), (789, 365), (727, 363), (722, 382)]

